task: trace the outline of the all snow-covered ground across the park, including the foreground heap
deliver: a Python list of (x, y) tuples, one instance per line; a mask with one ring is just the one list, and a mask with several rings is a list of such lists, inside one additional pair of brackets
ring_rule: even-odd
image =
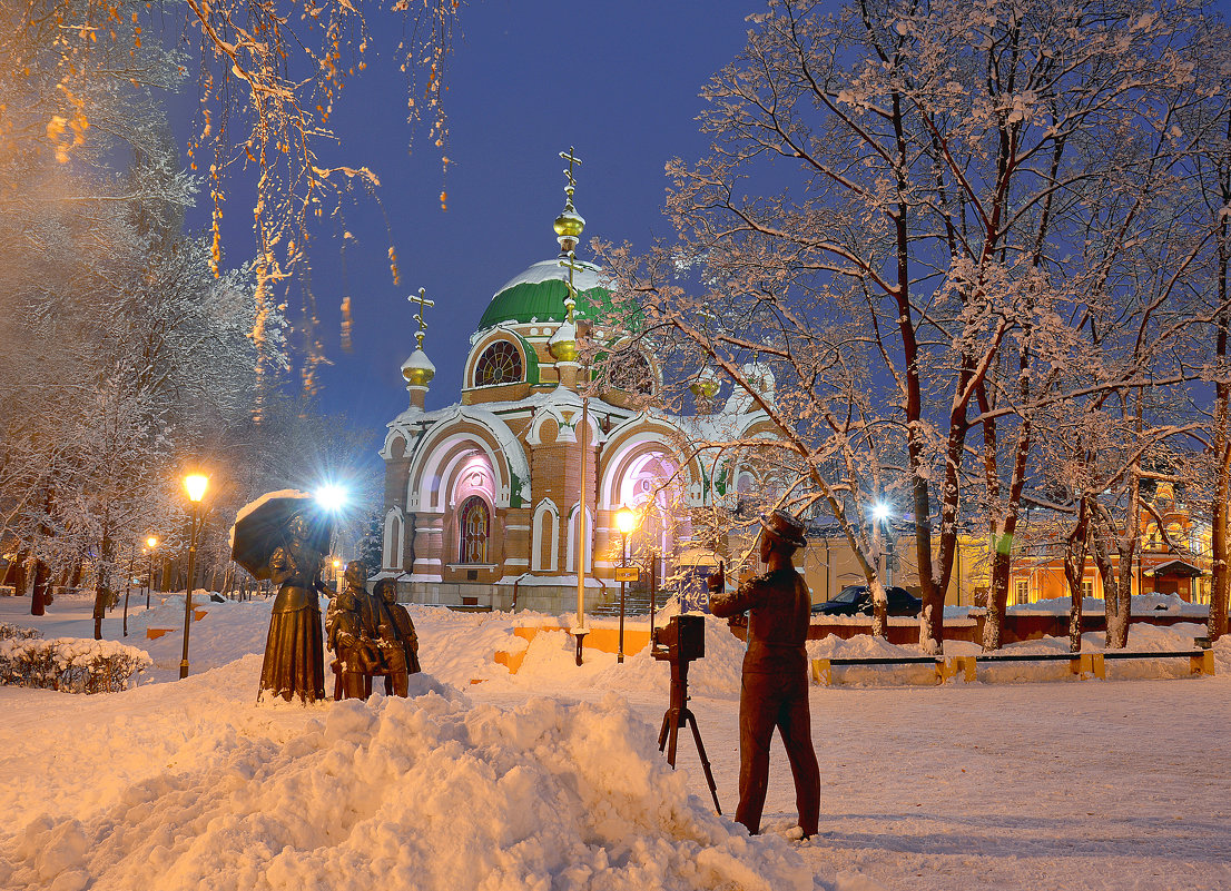
[[(692, 740), (678, 772), (656, 751), (667, 667), (644, 653), (587, 651), (577, 668), (563, 634), (527, 646), (512, 615), (411, 608), (425, 674), (410, 699), (257, 704), (267, 602), (201, 604), (186, 681), (181, 633), (145, 639), (182, 625), (182, 598), (133, 604), (124, 642), (154, 660), (137, 688), (0, 688), (0, 889), (1231, 889), (1231, 640), (1214, 678), (1174, 661), (1109, 663), (1105, 682), (838, 674), (812, 688), (821, 834), (790, 842), (777, 743), (764, 834), (729, 816), (742, 645), (721, 623), (689, 674), (719, 817)], [(28, 608), (0, 598), (0, 621), (91, 635), (85, 599)], [(103, 633), (119, 639), (118, 612)], [(1200, 634), (1134, 626), (1130, 646)], [(521, 649), (516, 676), (492, 662)]]

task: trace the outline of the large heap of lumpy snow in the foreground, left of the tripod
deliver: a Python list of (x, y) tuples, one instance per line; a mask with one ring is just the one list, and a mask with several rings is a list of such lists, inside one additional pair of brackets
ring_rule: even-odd
[(30, 820), (0, 842), (0, 886), (814, 887), (783, 839), (750, 839), (689, 795), (687, 773), (619, 697), (505, 710), (426, 676), (411, 695), (327, 704), (308, 720), (288, 706), (299, 720), (286, 738), (256, 732), (262, 710), (246, 695), (198, 701), (213, 730), (188, 757), (97, 809)]

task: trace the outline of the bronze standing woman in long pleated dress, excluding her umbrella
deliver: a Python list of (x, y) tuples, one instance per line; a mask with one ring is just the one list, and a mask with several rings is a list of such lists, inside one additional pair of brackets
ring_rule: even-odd
[(281, 585), (270, 617), (261, 665), (261, 690), (291, 701), (325, 698), (325, 651), (320, 624), (320, 564), (324, 555), (305, 544), (303, 521), (291, 527), (291, 541), (270, 557), (270, 578)]

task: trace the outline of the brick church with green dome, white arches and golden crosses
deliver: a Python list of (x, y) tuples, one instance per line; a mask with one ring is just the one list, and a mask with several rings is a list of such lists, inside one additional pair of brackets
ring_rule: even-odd
[[(574, 208), (572, 162), (555, 220), (559, 254), (513, 276), (492, 295), (470, 336), (459, 399), (425, 410), (435, 368), (417, 347), (401, 367), (409, 406), (389, 422), (384, 545), (377, 577), (404, 602), (569, 612), (583, 555), (586, 608), (618, 599), (623, 539), (616, 514), (636, 512), (628, 551), (668, 577), (697, 553), (693, 518), (732, 497), (740, 473), (704, 466), (691, 443), (747, 436), (766, 423), (739, 394), (715, 410), (718, 382), (692, 384), (696, 414), (655, 409), (662, 386), (654, 356), (619, 351), (618, 368), (582, 364), (579, 337), (603, 338), (611, 309), (602, 270), (576, 258), (585, 220)], [(545, 228), (545, 226), (544, 226)], [(595, 383), (586, 388), (586, 378)], [(772, 391), (772, 380), (766, 382)], [(742, 398), (741, 398), (742, 396)], [(682, 458), (681, 455), (691, 455)], [(730, 491), (728, 491), (730, 490)], [(633, 564), (630, 560), (629, 565)]]

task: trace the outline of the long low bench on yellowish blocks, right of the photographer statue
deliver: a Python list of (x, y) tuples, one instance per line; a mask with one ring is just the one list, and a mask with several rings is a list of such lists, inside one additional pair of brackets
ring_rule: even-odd
[(902, 657), (864, 657), (864, 658), (815, 658), (812, 660), (812, 679), (826, 687), (833, 684), (835, 666), (876, 666), (876, 665), (932, 665), (936, 667), (936, 683), (943, 684), (959, 673), (966, 683), (977, 679), (980, 665), (997, 662), (1067, 662), (1069, 671), (1078, 678), (1107, 679), (1107, 660), (1130, 658), (1187, 658), (1189, 674), (1214, 674), (1214, 652), (1206, 649), (1197, 650), (1160, 650), (1136, 652), (1110, 650), (1107, 652), (1039, 652), (1039, 653), (981, 653), (977, 656), (902, 656)]

